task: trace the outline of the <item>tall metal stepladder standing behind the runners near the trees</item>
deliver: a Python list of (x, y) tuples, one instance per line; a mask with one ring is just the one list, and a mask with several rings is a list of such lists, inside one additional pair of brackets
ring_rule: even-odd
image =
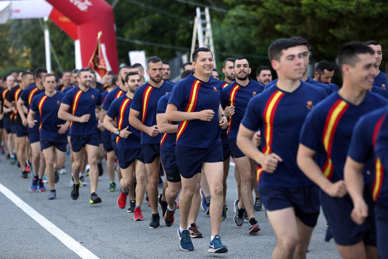
[[(209, 8), (205, 7), (204, 11), (201, 11), (200, 7), (196, 8), (197, 15), (194, 19), (193, 36), (191, 40), (191, 52), (190, 59), (194, 50), (196, 49), (196, 41), (198, 38), (198, 47), (206, 47), (213, 53), (213, 60), (215, 61), (213, 33), (211, 32), (211, 22)], [(214, 68), (216, 68), (216, 62), (214, 62)]]

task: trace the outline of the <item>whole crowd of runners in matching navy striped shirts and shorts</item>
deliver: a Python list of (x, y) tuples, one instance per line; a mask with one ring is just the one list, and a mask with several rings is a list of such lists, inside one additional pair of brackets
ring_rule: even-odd
[[(268, 57), (272, 68), (258, 68), (256, 80), (248, 59), (230, 57), (219, 81), (213, 54), (203, 47), (183, 64), (177, 83), (157, 56), (146, 68), (108, 72), (102, 83), (88, 68), (62, 78), (42, 68), (14, 72), (0, 80), (0, 151), (32, 179), (21, 188), (47, 191), (49, 200), (61, 174), (71, 172), (73, 200), (88, 176), (90, 204), (102, 202), (96, 191), (106, 159), (107, 191), (118, 189), (120, 209), (159, 228), (161, 220), (172, 226), (179, 208), (177, 245), (192, 251), (191, 238), (203, 237), (196, 225), (201, 207), (210, 215), (214, 253), (228, 251), (220, 225), (232, 157), (234, 224), (258, 233), (254, 211), (263, 205), (277, 239), (273, 258), (306, 257), (320, 206), (326, 240), (334, 238), (341, 257), (388, 258), (388, 92), (380, 43), (342, 47), (341, 87), (331, 82), (328, 61), (308, 77), (301, 37), (276, 40)], [(71, 169), (64, 168), (66, 153)], [(152, 215), (142, 214), (144, 198)]]

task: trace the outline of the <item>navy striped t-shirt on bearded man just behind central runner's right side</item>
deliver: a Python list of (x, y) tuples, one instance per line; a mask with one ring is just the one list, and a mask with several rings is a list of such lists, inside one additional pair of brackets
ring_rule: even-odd
[(236, 139), (240, 122), (246, 110), (249, 100), (264, 90), (262, 84), (255, 80), (249, 80), (248, 85), (241, 86), (236, 81), (222, 89), (221, 106), (234, 106), (234, 115), (229, 118), (228, 139)]

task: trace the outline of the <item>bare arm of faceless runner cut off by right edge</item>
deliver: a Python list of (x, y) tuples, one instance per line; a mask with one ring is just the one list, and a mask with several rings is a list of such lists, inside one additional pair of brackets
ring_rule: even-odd
[(353, 210), (350, 214), (353, 221), (361, 225), (368, 216), (368, 205), (364, 201), (364, 178), (362, 170), (365, 164), (356, 162), (350, 156), (346, 158), (344, 167), (345, 184), (353, 201)]

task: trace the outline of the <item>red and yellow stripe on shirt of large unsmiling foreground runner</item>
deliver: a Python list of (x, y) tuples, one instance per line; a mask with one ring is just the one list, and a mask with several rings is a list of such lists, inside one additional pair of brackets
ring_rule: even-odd
[(265, 123), (264, 135), (265, 146), (263, 148), (263, 154), (268, 155), (272, 153), (272, 136), (274, 134), (274, 118), (277, 109), (277, 105), (284, 96), (282, 91), (276, 90), (268, 99), (265, 104), (263, 118)]

